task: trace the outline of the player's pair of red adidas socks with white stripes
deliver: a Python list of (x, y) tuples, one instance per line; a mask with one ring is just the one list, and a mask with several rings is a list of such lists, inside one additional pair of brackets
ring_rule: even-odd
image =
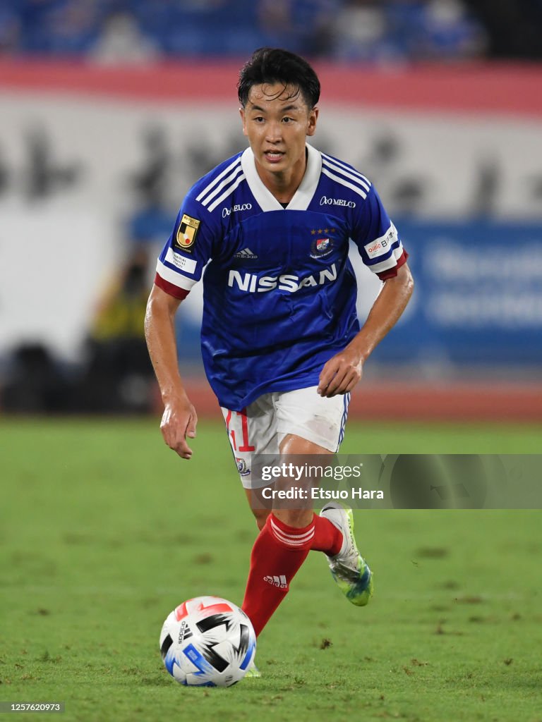
[(267, 517), (250, 559), (242, 609), (258, 636), (288, 593), (290, 582), (306, 560), (310, 549), (337, 554), (343, 534), (328, 520), (314, 515), (303, 529)]

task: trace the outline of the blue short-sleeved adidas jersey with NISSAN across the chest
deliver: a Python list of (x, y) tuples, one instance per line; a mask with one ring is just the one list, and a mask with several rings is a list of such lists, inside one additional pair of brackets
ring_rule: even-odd
[(182, 299), (203, 276), (202, 357), (221, 406), (241, 411), (262, 393), (316, 386), (324, 363), (353, 339), (350, 239), (382, 279), (406, 260), (371, 183), (311, 146), (285, 208), (249, 148), (191, 188), (155, 283)]

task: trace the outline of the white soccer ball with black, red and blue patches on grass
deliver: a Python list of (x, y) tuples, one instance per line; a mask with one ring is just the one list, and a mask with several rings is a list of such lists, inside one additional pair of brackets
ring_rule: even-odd
[(194, 687), (230, 687), (246, 674), (256, 653), (249, 617), (227, 599), (197, 596), (168, 615), (160, 632), (165, 669)]

